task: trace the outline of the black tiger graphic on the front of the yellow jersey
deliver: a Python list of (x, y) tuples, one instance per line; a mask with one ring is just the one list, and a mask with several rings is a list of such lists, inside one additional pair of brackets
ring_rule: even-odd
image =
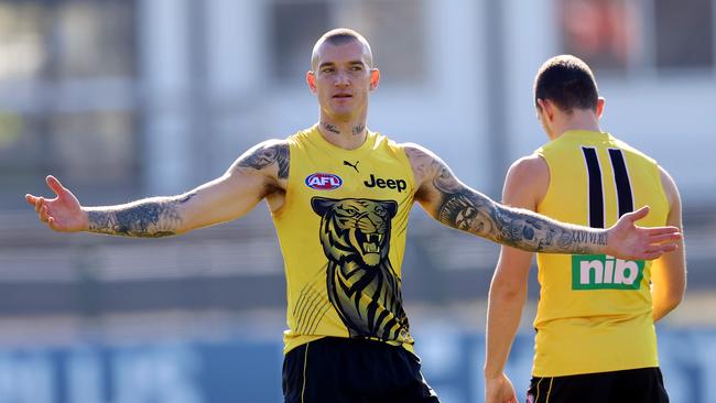
[(328, 259), (328, 298), (350, 337), (412, 342), (401, 280), (388, 258), (398, 204), (365, 198), (313, 197)]

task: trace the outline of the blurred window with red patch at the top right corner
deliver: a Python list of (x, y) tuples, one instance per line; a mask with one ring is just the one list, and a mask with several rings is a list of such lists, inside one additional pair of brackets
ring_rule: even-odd
[(556, 0), (562, 50), (594, 69), (713, 68), (713, 0)]

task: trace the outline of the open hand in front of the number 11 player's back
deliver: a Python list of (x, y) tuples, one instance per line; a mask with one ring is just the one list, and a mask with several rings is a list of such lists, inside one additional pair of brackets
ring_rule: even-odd
[(607, 253), (625, 260), (652, 260), (677, 248), (681, 232), (676, 227), (638, 227), (636, 222), (649, 214), (644, 206), (625, 214), (609, 228)]

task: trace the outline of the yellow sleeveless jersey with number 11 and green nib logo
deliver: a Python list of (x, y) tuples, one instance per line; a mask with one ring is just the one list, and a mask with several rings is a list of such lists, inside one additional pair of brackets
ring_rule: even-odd
[[(655, 161), (608, 133), (568, 131), (536, 151), (550, 170), (538, 213), (608, 228), (651, 207), (640, 226), (663, 226), (669, 202)], [(650, 261), (538, 253), (541, 285), (533, 375), (658, 367)]]

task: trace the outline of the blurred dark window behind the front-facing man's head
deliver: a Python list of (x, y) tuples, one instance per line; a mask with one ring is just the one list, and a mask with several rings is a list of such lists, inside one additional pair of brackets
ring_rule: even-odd
[(327, 30), (345, 26), (370, 42), (386, 84), (414, 84), (425, 73), (422, 0), (274, 0), (270, 10), (272, 70), (288, 83), (303, 83), (313, 45)]

